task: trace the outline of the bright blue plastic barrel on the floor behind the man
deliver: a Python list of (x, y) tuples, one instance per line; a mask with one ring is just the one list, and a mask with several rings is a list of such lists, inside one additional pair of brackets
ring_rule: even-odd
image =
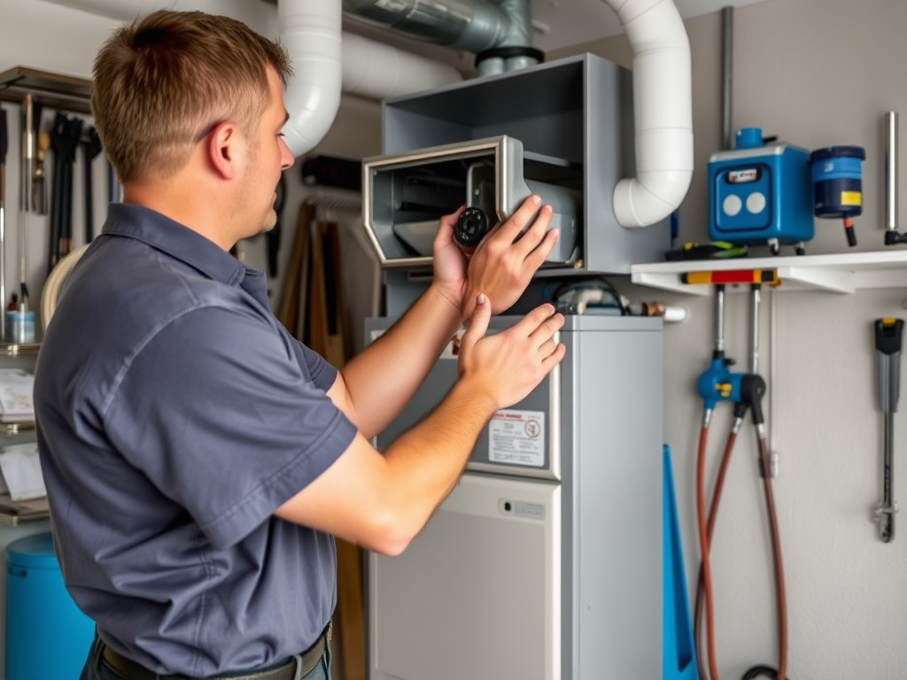
[(6, 680), (78, 680), (94, 622), (75, 606), (50, 533), (6, 546)]

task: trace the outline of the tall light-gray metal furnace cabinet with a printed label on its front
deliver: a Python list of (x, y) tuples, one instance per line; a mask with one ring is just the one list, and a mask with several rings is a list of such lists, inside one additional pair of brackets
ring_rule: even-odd
[[(661, 677), (661, 321), (570, 316), (560, 335), (561, 366), (495, 414), (409, 548), (368, 556), (371, 680)], [(379, 448), (453, 384), (453, 347)]]

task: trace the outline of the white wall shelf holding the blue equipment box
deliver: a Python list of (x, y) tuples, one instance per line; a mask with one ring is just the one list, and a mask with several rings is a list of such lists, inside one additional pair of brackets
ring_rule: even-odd
[[(873, 252), (834, 255), (735, 257), (732, 259), (655, 262), (630, 267), (630, 280), (640, 286), (675, 293), (706, 296), (713, 286), (681, 281), (687, 272), (729, 272), (775, 269), (781, 291), (818, 290), (849, 294), (863, 288), (907, 288), (907, 250), (892, 248)], [(748, 289), (746, 284), (742, 285)]]

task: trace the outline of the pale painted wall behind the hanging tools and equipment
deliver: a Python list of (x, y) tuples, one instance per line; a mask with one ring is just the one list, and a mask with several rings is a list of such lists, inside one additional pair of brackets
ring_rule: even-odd
[[(0, 16), (0, 70), (22, 63), (87, 75), (97, 45), (113, 24), (41, 0), (0, 0)], [(766, 0), (736, 10), (734, 23), (734, 126), (759, 126), (808, 149), (834, 144), (865, 147), (858, 249), (883, 249), (881, 124), (885, 111), (907, 116), (907, 88), (902, 86), (907, 43), (900, 34), (907, 26), (907, 3)], [(706, 163), (708, 154), (721, 144), (719, 16), (689, 21), (688, 33), (697, 165), (680, 209), (680, 229), (683, 240), (704, 240)], [(580, 49), (629, 63), (622, 38)], [(4, 106), (17, 121), (17, 109)], [(345, 101), (331, 132), (333, 146), (324, 152), (346, 157), (378, 152), (378, 115), (372, 102)], [(902, 133), (907, 135), (907, 118)], [(355, 142), (349, 141), (351, 135), (356, 135)], [(902, 158), (907, 158), (903, 149), (902, 144)], [(14, 167), (7, 195), (15, 198), (15, 146), (10, 151), (7, 161), (12, 160)], [(7, 202), (7, 233), (15, 232), (15, 200)], [(820, 220), (816, 227), (817, 238), (807, 252), (847, 249), (840, 225)], [(43, 253), (43, 248), (35, 251)], [(17, 276), (15, 267), (7, 272), (7, 288)], [(34, 277), (39, 280), (41, 274)], [(712, 349), (712, 303), (633, 287), (619, 277), (616, 281), (635, 299), (678, 302), (690, 311), (684, 324), (666, 328), (665, 363), (666, 436), (674, 455), (692, 583), (697, 565), (694, 465), (701, 420), (695, 382)], [(882, 680), (901, 678), (907, 668), (907, 531), (883, 544), (869, 520), (880, 498), (882, 447), (870, 328), (878, 316), (907, 315), (902, 309), (905, 296), (902, 290), (775, 296), (777, 377), (769, 384), (774, 397), (769, 425), (780, 453), (775, 498), (784, 541), (792, 680)], [(765, 328), (769, 295), (764, 298)], [(728, 354), (736, 357), (741, 370), (746, 367), (748, 314), (745, 295), (729, 296)], [(767, 366), (767, 331), (764, 335)], [(765, 369), (761, 372), (765, 374)], [(710, 476), (729, 419), (729, 407), (717, 410), (709, 446)], [(895, 499), (907, 503), (903, 456), (907, 428), (902, 415), (895, 424), (894, 442)], [(739, 677), (756, 663), (775, 662), (770, 553), (755, 460), (747, 423), (738, 438), (713, 548), (717, 658), (726, 677)]]

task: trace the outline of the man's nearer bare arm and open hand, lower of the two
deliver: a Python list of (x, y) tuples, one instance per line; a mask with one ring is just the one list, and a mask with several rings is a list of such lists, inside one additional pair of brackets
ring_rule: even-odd
[(485, 335), (491, 301), (480, 294), (463, 335), (459, 379), (441, 403), (384, 452), (361, 434), (276, 515), (385, 555), (398, 555), (460, 479), (493, 413), (519, 402), (561, 362), (564, 318), (541, 305)]

